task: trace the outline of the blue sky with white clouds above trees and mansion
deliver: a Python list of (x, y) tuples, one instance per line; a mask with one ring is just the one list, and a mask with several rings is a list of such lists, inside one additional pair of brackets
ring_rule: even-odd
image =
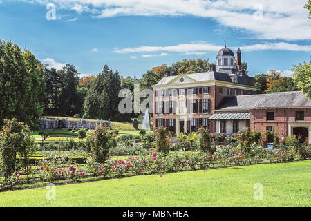
[[(55, 6), (55, 18), (50, 14)], [(154, 66), (210, 59), (227, 41), (249, 75), (310, 61), (305, 0), (0, 0), (0, 39), (55, 68), (96, 75), (104, 64), (142, 77)], [(50, 6), (50, 5), (48, 5)], [(47, 17), (48, 15), (48, 17)]]

